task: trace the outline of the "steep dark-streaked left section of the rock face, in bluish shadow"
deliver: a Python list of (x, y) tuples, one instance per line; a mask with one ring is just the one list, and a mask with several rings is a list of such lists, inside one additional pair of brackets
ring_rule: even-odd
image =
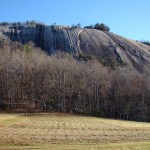
[(48, 54), (62, 50), (76, 55), (79, 50), (81, 29), (44, 25), (1, 26), (0, 32), (0, 35), (7, 36), (14, 42), (18, 41), (25, 44), (32, 41)]

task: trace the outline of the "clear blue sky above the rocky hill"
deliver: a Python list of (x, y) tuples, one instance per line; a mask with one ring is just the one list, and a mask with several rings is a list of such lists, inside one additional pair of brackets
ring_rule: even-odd
[(0, 22), (104, 23), (111, 32), (133, 40), (150, 41), (149, 14), (150, 0), (0, 0)]

